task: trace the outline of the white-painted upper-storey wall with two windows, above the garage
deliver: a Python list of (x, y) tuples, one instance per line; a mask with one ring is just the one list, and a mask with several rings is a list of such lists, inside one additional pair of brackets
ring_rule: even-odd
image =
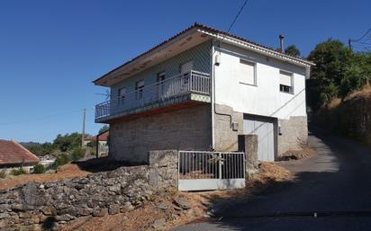
[[(233, 111), (288, 120), (306, 116), (305, 69), (249, 50), (222, 44), (214, 57), (221, 56), (214, 67), (215, 102)], [(257, 86), (240, 84), (240, 58), (256, 63)], [(279, 91), (280, 69), (294, 73), (294, 94)]]

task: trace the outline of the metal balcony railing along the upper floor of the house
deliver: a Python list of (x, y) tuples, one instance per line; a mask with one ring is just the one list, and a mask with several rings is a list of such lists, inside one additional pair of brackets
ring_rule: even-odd
[(197, 71), (173, 76), (95, 106), (95, 120), (166, 102), (189, 93), (210, 95), (210, 75)]

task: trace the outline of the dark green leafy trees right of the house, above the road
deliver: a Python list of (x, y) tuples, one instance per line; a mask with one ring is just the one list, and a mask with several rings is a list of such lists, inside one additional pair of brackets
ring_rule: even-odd
[(314, 111), (371, 80), (371, 53), (352, 52), (339, 40), (319, 43), (308, 59), (316, 64), (307, 82), (308, 105)]

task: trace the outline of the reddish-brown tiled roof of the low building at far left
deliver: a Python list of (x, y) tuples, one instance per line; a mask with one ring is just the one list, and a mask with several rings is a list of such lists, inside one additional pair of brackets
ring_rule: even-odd
[(14, 140), (0, 139), (0, 165), (37, 164), (40, 159)]

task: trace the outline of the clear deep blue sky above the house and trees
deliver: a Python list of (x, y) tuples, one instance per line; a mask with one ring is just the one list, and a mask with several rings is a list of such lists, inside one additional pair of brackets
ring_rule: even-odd
[[(227, 30), (244, 0), (0, 2), (0, 138), (51, 141), (86, 131), (104, 87), (91, 83), (194, 22)], [(370, 1), (249, 0), (231, 32), (306, 56), (322, 40), (346, 42), (371, 27)]]

